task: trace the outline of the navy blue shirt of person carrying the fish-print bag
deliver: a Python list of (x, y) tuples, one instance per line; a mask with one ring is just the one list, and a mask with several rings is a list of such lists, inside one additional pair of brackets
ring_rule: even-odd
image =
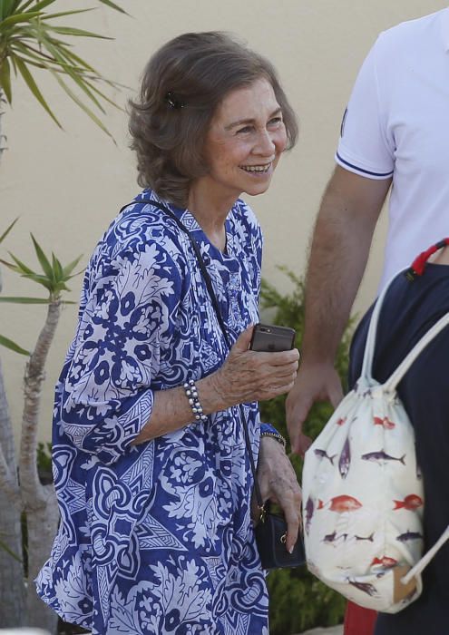
[[(349, 387), (361, 373), (370, 308), (351, 346)], [(449, 265), (427, 264), (410, 282), (404, 272), (389, 288), (377, 327), (373, 376), (385, 382), (425, 332), (449, 311)], [(449, 327), (434, 338), (398, 386), (415, 427), (425, 488), (425, 551), (449, 524)], [(423, 573), (422, 596), (395, 615), (379, 614), (376, 635), (449, 633), (449, 543)], [(360, 634), (362, 635), (362, 634)]]

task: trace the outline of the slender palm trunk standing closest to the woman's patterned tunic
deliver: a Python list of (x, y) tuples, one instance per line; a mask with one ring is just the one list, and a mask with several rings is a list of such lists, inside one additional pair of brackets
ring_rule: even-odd
[(36, 449), (44, 367), (60, 313), (61, 301), (57, 297), (48, 305), (44, 327), (26, 365), (20, 446), (20, 488), (28, 530), (28, 621), (32, 626), (52, 633), (56, 629), (57, 617), (43, 601), (39, 600), (34, 587), (34, 578), (50, 554), (59, 516), (53, 485), (44, 486), (40, 483)]

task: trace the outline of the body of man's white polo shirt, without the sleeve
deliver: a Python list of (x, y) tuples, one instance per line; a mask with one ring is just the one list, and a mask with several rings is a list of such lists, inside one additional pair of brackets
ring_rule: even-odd
[(379, 61), (395, 159), (381, 287), (449, 232), (449, 10), (402, 26)]

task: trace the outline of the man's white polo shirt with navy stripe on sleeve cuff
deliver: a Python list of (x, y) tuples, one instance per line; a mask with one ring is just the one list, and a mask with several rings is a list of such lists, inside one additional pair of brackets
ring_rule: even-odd
[(393, 176), (381, 286), (449, 237), (449, 8), (379, 35), (356, 79), (336, 161)]

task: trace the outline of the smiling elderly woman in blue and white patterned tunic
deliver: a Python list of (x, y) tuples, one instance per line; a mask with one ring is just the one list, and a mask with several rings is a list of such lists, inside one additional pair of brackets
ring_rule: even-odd
[(249, 350), (262, 239), (239, 195), (268, 189), (295, 116), (259, 54), (225, 34), (184, 34), (151, 58), (130, 130), (145, 189), (84, 278), (56, 388), (62, 520), (38, 592), (93, 634), (261, 635), (268, 598), (239, 405), (290, 550), (300, 490), (257, 401), (290, 389), (298, 350)]

